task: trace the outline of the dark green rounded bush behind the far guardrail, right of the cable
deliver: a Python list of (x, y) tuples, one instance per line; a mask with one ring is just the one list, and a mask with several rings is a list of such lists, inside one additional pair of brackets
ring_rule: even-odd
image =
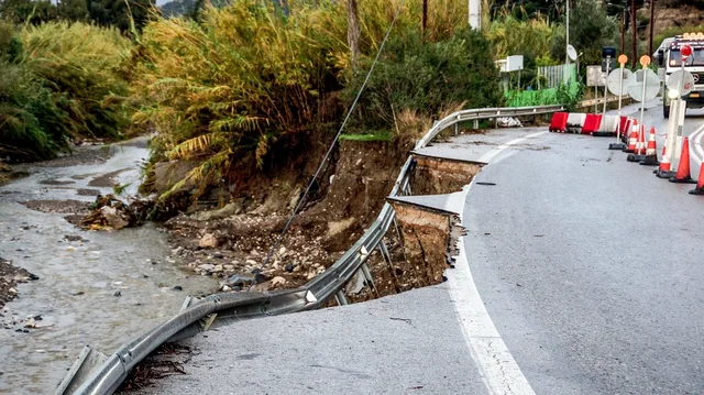
[[(396, 35), (387, 43), (360, 99), (354, 128), (404, 133), (399, 117), (408, 112), (438, 119), (448, 106), (498, 106), (502, 90), (491, 54), (488, 41), (472, 30), (436, 43), (424, 42), (414, 33)], [(346, 102), (356, 95), (364, 77), (356, 76), (344, 89)]]

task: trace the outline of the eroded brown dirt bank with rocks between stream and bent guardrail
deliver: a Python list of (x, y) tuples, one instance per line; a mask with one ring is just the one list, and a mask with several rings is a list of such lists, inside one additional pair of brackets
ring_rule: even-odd
[(221, 277), (223, 290), (252, 283), (257, 283), (254, 289), (296, 287), (329, 267), (376, 219), (409, 150), (409, 144), (391, 142), (341, 142), (266, 265), (270, 249), (302, 195), (302, 183), (292, 185), (278, 177), (220, 210), (178, 216), (165, 226), (189, 267)]

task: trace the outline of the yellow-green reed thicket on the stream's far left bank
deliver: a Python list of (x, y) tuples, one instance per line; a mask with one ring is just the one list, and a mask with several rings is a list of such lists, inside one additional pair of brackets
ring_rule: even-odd
[(128, 86), (117, 67), (127, 39), (82, 23), (0, 26), (0, 154), (51, 158), (69, 139), (120, 134)]

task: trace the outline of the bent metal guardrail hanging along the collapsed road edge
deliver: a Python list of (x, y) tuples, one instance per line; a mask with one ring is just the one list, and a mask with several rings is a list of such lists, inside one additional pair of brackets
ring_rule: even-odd
[[(487, 108), (457, 111), (437, 122), (418, 141), (416, 150), (426, 146), (441, 131), (462, 121), (544, 114), (564, 110), (563, 106), (521, 108)], [(409, 176), (415, 162), (408, 156), (389, 196), (410, 195)], [(364, 234), (330, 268), (296, 289), (273, 293), (216, 294), (204, 299), (187, 298), (180, 312), (166, 322), (147, 331), (130, 343), (120, 347), (110, 356), (89, 356), (87, 348), (64, 378), (57, 394), (103, 395), (112, 394), (127, 377), (129, 371), (157, 347), (205, 331), (215, 325), (224, 325), (263, 316), (275, 316), (323, 307), (332, 297), (346, 304), (345, 285), (358, 271), (373, 284), (366, 260), (374, 249), (385, 254), (384, 234), (395, 220), (388, 202), (384, 204), (377, 219)], [(96, 365), (90, 365), (90, 361)]]

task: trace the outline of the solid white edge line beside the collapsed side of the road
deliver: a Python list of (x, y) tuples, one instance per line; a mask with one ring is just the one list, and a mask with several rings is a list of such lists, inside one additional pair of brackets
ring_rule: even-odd
[[(487, 152), (480, 162), (490, 163), (504, 150), (518, 144), (527, 139), (531, 139), (547, 132), (528, 134), (525, 138), (512, 140), (498, 147)], [(491, 165), (491, 164), (490, 164)], [(462, 188), (462, 199), (453, 199), (462, 207), (458, 211), (463, 212), (466, 196), (474, 184), (472, 180)], [(472, 359), (480, 369), (480, 374), (491, 394), (520, 394), (535, 395), (532, 387), (520, 371), (518, 363), (508, 351), (506, 343), (502, 339), (492, 317), (484, 307), (484, 301), (480, 296), (469, 261), (464, 250), (464, 239), (458, 241), (459, 256), (455, 257), (455, 268), (448, 276), (448, 287), (454, 301), (454, 309), (462, 326), (464, 340), (466, 341)]]

